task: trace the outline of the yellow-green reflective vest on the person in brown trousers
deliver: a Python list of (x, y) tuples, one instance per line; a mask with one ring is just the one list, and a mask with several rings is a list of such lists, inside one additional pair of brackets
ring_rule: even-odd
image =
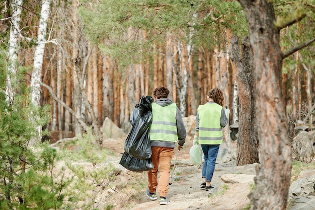
[(160, 106), (152, 103), (150, 141), (177, 142), (176, 104)]

